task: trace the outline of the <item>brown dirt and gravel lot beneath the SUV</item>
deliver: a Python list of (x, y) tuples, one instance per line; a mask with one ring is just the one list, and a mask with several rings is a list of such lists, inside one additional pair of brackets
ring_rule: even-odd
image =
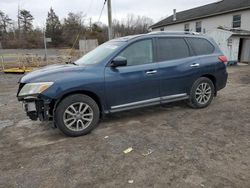
[(79, 138), (28, 120), (20, 76), (0, 74), (0, 187), (250, 187), (250, 66), (228, 71), (206, 109), (118, 113)]

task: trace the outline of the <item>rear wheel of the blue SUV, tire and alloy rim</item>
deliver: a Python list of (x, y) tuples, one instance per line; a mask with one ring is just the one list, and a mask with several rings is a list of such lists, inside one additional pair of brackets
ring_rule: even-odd
[(194, 82), (187, 104), (192, 108), (205, 108), (212, 102), (214, 94), (213, 82), (209, 78), (201, 77)]

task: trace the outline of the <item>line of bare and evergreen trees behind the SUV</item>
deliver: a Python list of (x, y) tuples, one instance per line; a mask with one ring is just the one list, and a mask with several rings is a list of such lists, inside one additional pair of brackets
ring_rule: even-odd
[[(28, 10), (18, 11), (17, 23), (0, 10), (0, 43), (3, 48), (42, 48), (44, 35), (51, 38), (49, 47), (78, 48), (81, 39), (97, 39), (101, 44), (108, 40), (108, 27), (91, 23), (82, 13), (68, 13), (60, 21), (53, 8), (48, 11), (46, 29), (34, 27), (34, 17)], [(128, 15), (123, 20), (113, 20), (114, 37), (147, 33), (153, 20), (144, 16)]]

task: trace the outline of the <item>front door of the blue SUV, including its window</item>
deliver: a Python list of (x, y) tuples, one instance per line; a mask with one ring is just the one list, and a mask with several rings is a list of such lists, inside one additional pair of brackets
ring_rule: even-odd
[(111, 112), (159, 103), (158, 67), (152, 39), (129, 45), (118, 56), (127, 66), (106, 67), (106, 101)]

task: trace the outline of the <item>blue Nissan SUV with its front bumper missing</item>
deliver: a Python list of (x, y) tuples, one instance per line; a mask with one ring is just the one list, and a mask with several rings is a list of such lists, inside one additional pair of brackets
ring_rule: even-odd
[(226, 86), (226, 63), (215, 42), (203, 35), (128, 36), (70, 64), (25, 75), (17, 97), (31, 120), (53, 120), (64, 134), (81, 136), (109, 113), (180, 100), (207, 107)]

